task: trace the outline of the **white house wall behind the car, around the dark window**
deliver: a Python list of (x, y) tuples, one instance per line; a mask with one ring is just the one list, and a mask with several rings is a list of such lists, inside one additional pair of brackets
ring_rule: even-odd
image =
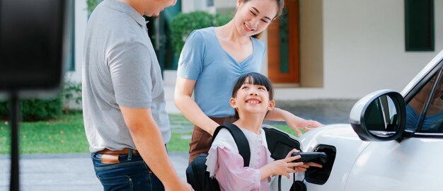
[[(300, 3), (303, 7), (318, 2)], [(277, 88), (276, 99), (361, 98), (382, 88), (401, 91), (443, 49), (439, 35), (443, 33), (443, 13), (438, 11), (443, 10), (443, 0), (435, 0), (434, 52), (405, 52), (403, 0), (323, 1), (321, 7), (323, 36), (318, 37), (323, 38), (323, 49), (302, 50), (301, 68), (310, 64), (307, 60), (323, 57), (323, 87), (306, 88), (302, 84), (301, 88)], [(301, 11), (301, 18), (309, 16), (306, 12)], [(302, 27), (306, 21), (301, 20)], [(303, 31), (301, 45), (318, 43)], [(316, 72), (306, 75), (318, 76)]]

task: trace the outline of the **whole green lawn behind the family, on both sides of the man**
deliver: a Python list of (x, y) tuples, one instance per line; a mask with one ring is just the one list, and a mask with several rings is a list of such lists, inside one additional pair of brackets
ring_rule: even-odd
[[(183, 115), (170, 115), (173, 133), (168, 143), (168, 151), (187, 152), (192, 134), (192, 125)], [(57, 120), (22, 122), (20, 129), (21, 154), (66, 154), (88, 153), (88, 141), (80, 112), (62, 115)], [(275, 127), (296, 133), (285, 125)], [(10, 153), (10, 127), (0, 121), (0, 154)]]

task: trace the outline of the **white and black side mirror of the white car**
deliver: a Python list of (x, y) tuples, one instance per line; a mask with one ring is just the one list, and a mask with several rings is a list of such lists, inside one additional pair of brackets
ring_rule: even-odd
[(405, 116), (403, 96), (396, 91), (381, 90), (355, 103), (350, 124), (363, 141), (391, 141), (403, 134)]

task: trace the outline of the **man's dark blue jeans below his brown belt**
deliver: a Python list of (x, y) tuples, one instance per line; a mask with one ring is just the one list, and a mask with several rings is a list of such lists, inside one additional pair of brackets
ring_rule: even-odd
[(144, 163), (142, 156), (120, 154), (119, 163), (103, 164), (103, 154), (91, 154), (96, 176), (103, 190), (165, 190), (159, 178)]

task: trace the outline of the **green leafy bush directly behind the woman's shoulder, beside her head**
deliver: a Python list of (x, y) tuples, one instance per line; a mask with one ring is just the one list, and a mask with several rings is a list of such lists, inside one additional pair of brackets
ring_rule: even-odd
[(232, 16), (212, 15), (205, 11), (179, 13), (171, 19), (171, 39), (175, 54), (180, 55), (185, 40), (193, 31), (210, 26), (220, 26), (228, 23)]

